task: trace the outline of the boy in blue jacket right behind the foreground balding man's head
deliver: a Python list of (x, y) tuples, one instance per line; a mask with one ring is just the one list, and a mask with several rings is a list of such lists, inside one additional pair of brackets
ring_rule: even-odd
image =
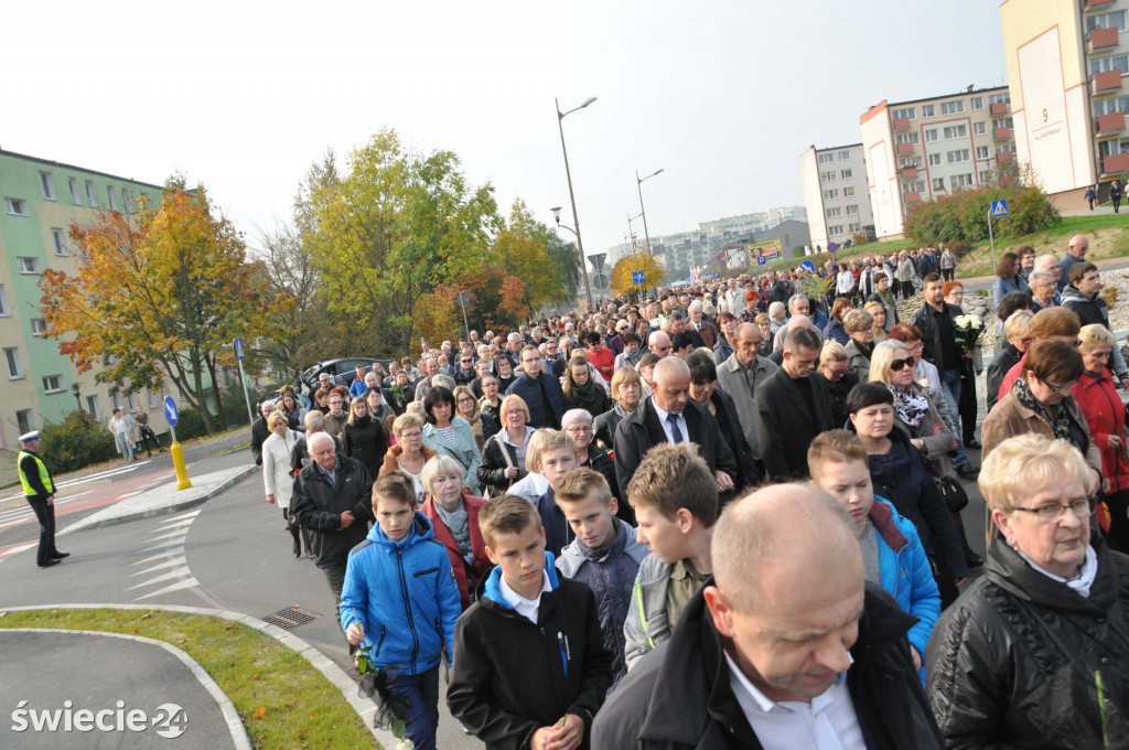
[(903, 611), (918, 619), (907, 636), (924, 682), (921, 664), (940, 614), (940, 592), (917, 527), (890, 502), (875, 497), (866, 448), (858, 435), (844, 429), (816, 435), (807, 448), (807, 468), (812, 483), (839, 500), (850, 515), (863, 548), (866, 579), (881, 584)]

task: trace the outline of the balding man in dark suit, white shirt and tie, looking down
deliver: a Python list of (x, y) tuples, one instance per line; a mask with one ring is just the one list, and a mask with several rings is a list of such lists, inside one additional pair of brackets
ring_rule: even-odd
[(615, 478), (627, 487), (644, 455), (659, 443), (690, 442), (706, 460), (717, 489), (733, 491), (737, 460), (729, 450), (717, 419), (690, 402), (690, 368), (677, 357), (664, 357), (651, 374), (654, 395), (644, 401), (615, 429)]

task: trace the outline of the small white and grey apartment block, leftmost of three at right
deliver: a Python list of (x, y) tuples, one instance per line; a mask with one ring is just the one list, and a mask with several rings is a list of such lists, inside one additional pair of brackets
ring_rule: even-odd
[(825, 250), (856, 233), (874, 230), (861, 143), (809, 149), (799, 155), (812, 246)]

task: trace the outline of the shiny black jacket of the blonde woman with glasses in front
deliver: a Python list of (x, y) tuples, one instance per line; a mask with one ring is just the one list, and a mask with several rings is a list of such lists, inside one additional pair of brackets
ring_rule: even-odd
[(949, 748), (1129, 747), (1129, 557), (1092, 546), (1084, 598), (997, 535), (986, 575), (942, 612), (926, 674)]

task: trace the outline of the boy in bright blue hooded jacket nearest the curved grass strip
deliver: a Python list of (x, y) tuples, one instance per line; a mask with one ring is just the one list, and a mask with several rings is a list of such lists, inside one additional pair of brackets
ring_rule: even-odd
[(353, 645), (369, 648), (386, 689), (406, 706), (408, 738), (435, 750), (439, 725), (439, 663), (454, 654), (462, 612), (447, 550), (431, 522), (415, 511), (415, 489), (404, 473), (380, 477), (373, 487), (377, 525), (349, 552), (341, 591), (341, 627)]

